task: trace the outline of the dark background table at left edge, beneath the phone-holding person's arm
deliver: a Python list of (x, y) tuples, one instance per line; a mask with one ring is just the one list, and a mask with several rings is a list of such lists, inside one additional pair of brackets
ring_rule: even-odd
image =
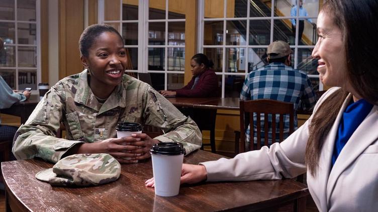
[(2, 109), (0, 112), (3, 114), (18, 116), (21, 118), (21, 124), (25, 124), (30, 114), (40, 101), (38, 95), (32, 95), (24, 102), (16, 102), (10, 108)]

